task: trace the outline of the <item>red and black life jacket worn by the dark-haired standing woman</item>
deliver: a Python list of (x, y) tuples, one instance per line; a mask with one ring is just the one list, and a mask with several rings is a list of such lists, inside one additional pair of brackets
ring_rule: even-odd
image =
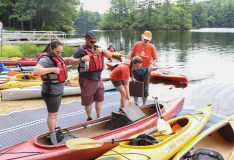
[(55, 84), (55, 83), (65, 82), (67, 79), (67, 66), (66, 66), (66, 62), (64, 61), (64, 59), (61, 56), (55, 56), (48, 52), (44, 52), (38, 57), (37, 62), (43, 56), (50, 57), (50, 59), (57, 65), (57, 68), (61, 69), (59, 74), (48, 73), (45, 75), (41, 75), (41, 79), (43, 83)]

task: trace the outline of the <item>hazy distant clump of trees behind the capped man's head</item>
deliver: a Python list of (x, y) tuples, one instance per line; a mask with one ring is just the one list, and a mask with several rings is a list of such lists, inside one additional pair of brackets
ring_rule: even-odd
[(79, 19), (75, 21), (74, 27), (97, 28), (97, 23), (102, 21), (102, 16), (99, 12), (83, 10), (83, 7), (81, 7), (78, 15)]

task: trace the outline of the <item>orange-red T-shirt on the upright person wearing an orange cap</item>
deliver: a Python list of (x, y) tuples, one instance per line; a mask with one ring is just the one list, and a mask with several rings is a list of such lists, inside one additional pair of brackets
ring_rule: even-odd
[(157, 57), (156, 49), (152, 44), (149, 44), (149, 46), (143, 50), (142, 42), (136, 42), (132, 50), (135, 52), (134, 56), (142, 58), (142, 67), (148, 67), (150, 65), (151, 57)]

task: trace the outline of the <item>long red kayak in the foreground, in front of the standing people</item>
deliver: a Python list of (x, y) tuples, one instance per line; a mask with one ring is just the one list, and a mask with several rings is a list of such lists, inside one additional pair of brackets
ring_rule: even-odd
[[(165, 120), (173, 118), (178, 114), (184, 104), (184, 98), (177, 98), (160, 104), (160, 108)], [(141, 133), (146, 129), (156, 126), (158, 116), (154, 104), (139, 107), (145, 117), (127, 126), (110, 129), (111, 115), (96, 120), (80, 123), (74, 126), (61, 129), (64, 136), (72, 134), (79, 135), (81, 138), (92, 138), (95, 140), (107, 141), (111, 139), (128, 138)], [(51, 132), (43, 133), (35, 138), (16, 144), (6, 149), (0, 150), (0, 159), (20, 159), (20, 160), (90, 160), (94, 159), (108, 150), (116, 147), (118, 143), (106, 143), (102, 147), (74, 150), (65, 144), (52, 145), (48, 136)]]

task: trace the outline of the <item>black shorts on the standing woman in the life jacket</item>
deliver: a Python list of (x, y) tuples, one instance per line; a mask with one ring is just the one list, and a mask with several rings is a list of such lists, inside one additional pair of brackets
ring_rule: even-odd
[(49, 113), (56, 113), (59, 110), (59, 106), (61, 104), (61, 99), (62, 99), (62, 94), (58, 96), (47, 96), (45, 97), (42, 93), (42, 98), (44, 99), (46, 106), (47, 106), (47, 111)]

